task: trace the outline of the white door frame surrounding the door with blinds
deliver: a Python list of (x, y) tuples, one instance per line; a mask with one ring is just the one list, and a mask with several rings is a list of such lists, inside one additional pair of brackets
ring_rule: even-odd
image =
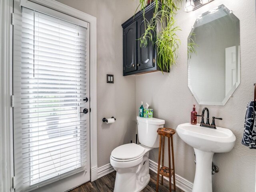
[[(56, 2), (55, 0), (29, 0), (53, 10), (90, 23), (90, 172), (91, 181), (98, 179), (97, 162), (97, 50), (96, 17)], [(28, 0), (26, 2), (29, 2)], [(12, 13), (13, 1), (1, 0), (0, 6), (0, 190), (12, 192), (13, 131), (12, 131)]]

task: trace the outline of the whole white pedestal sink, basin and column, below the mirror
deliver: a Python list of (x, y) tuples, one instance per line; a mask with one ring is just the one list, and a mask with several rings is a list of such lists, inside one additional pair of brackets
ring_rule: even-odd
[(236, 137), (231, 130), (201, 127), (200, 124), (180, 124), (176, 129), (180, 138), (194, 148), (196, 174), (192, 192), (212, 192), (212, 157), (214, 153), (229, 152)]

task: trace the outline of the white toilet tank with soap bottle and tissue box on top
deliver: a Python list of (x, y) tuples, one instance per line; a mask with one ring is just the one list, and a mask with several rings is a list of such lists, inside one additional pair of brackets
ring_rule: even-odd
[(164, 123), (162, 119), (137, 116), (139, 142), (150, 148), (158, 148), (159, 135), (157, 129), (164, 127)]

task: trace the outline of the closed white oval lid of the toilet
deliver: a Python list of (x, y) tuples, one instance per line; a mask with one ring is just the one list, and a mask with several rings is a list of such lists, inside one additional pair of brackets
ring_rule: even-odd
[(111, 155), (116, 159), (134, 159), (136, 157), (140, 157), (144, 151), (145, 148), (142, 146), (135, 143), (129, 143), (115, 148)]

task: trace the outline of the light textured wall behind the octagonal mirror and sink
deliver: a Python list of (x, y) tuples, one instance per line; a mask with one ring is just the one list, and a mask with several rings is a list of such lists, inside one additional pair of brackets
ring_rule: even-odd
[[(187, 38), (196, 17), (221, 4), (233, 10), (240, 19), (241, 84), (225, 106), (199, 106), (187, 85)], [(173, 66), (170, 74), (155, 72), (136, 76), (137, 108), (140, 101), (148, 102), (154, 109), (154, 117), (166, 120), (166, 127), (176, 129), (178, 124), (190, 122), (192, 104), (197, 104), (198, 113), (208, 107), (210, 116), (223, 118), (222, 121), (216, 121), (218, 126), (230, 128), (234, 132), (234, 149), (229, 153), (214, 154), (213, 161), (220, 168), (220, 172), (213, 176), (214, 192), (255, 191), (256, 150), (241, 144), (246, 104), (253, 99), (253, 84), (256, 82), (255, 10), (255, 0), (214, 0), (189, 13), (184, 12), (182, 7), (176, 16), (177, 25), (182, 29), (178, 32), (181, 45), (176, 66)], [(196, 168), (194, 151), (178, 134), (174, 136), (174, 155), (176, 174), (193, 182)], [(157, 162), (157, 158), (158, 149), (155, 149), (150, 152), (150, 159)], [(167, 156), (165, 160), (167, 162)]]

